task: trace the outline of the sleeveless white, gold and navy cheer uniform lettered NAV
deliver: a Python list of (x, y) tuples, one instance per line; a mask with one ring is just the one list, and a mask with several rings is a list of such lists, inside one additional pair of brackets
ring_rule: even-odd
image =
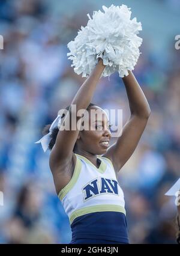
[(73, 177), (58, 195), (70, 220), (72, 240), (128, 243), (124, 193), (112, 162), (98, 156), (97, 168), (86, 157), (75, 155)]

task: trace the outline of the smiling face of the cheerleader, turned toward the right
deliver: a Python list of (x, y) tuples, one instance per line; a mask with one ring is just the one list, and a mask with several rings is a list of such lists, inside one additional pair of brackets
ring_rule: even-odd
[[(97, 115), (92, 114), (92, 112), (96, 112)], [(82, 130), (79, 133), (76, 141), (77, 148), (91, 154), (104, 154), (109, 147), (111, 138), (107, 114), (98, 106), (89, 108), (88, 114), (83, 120), (84, 123), (89, 123), (89, 130)]]

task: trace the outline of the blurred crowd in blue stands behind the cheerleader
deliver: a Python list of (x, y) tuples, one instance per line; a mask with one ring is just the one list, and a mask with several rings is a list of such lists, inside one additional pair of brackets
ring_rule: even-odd
[[(89, 9), (59, 17), (51, 12), (52, 4), (0, 2), (0, 243), (71, 240), (68, 217), (55, 193), (49, 152), (44, 154), (34, 142), (85, 81), (67, 59), (67, 43), (86, 25)], [(174, 38), (169, 40), (165, 62), (143, 39), (133, 73), (152, 114), (136, 151), (119, 172), (119, 183), (130, 242), (176, 243), (175, 198), (164, 194), (180, 173), (180, 50), (175, 49)], [(123, 123), (130, 114), (118, 73), (101, 78), (92, 102), (104, 109), (121, 108)]]

